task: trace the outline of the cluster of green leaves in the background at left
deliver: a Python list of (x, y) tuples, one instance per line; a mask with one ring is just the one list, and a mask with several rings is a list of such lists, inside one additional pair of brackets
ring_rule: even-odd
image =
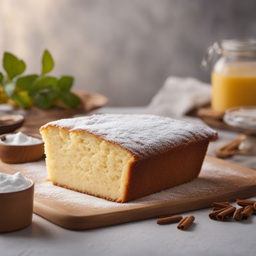
[(72, 76), (61, 76), (60, 79), (45, 76), (54, 68), (51, 53), (47, 50), (42, 56), (40, 75), (31, 74), (20, 77), (19, 75), (26, 70), (26, 64), (10, 52), (4, 52), (3, 67), (6, 71), (4, 76), (0, 72), (0, 86), (2, 85), (2, 94), (5, 97), (2, 99), (3, 102), (11, 99), (11, 102), (20, 108), (29, 108), (35, 104), (43, 109), (51, 108), (57, 100), (63, 102), (68, 108), (77, 108), (81, 102), (79, 97), (70, 92), (74, 83)]

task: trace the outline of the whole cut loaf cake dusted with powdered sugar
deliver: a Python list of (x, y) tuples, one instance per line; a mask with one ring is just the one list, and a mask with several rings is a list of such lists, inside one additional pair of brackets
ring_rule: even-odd
[(41, 127), (54, 185), (115, 202), (195, 179), (210, 128), (155, 115), (93, 115)]

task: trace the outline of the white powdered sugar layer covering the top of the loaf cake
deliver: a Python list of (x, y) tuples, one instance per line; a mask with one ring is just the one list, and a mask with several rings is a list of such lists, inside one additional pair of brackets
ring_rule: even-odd
[(156, 115), (83, 116), (50, 122), (42, 128), (48, 125), (96, 134), (121, 145), (138, 158), (197, 140), (212, 140), (216, 136), (208, 127)]

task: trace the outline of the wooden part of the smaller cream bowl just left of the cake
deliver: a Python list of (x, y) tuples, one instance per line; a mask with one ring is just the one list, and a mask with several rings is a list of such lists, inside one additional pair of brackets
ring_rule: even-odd
[[(38, 138), (42, 140), (40, 134), (24, 132), (24, 134)], [(5, 136), (0, 136), (1, 140), (4, 140)], [(8, 164), (19, 164), (38, 161), (44, 156), (44, 141), (40, 144), (35, 145), (8, 145), (0, 143), (0, 159), (4, 163)]]

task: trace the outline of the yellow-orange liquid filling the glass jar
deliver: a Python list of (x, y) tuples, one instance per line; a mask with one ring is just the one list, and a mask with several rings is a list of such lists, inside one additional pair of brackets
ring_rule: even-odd
[(212, 72), (212, 109), (225, 112), (236, 106), (256, 106), (256, 69), (232, 65)]

